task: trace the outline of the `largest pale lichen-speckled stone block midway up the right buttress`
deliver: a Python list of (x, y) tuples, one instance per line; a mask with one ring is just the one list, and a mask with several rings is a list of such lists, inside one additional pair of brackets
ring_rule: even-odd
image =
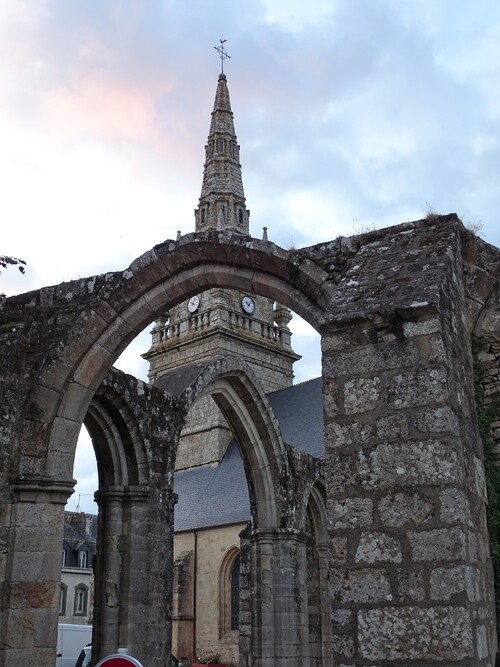
[(457, 482), (462, 470), (455, 450), (430, 440), (360, 451), (359, 474), (363, 487), (385, 489)]

